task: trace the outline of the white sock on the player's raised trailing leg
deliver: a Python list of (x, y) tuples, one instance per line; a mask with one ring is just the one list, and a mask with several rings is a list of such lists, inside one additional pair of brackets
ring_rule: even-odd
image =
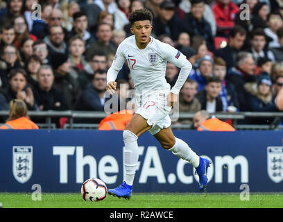
[(174, 155), (182, 158), (183, 160), (187, 160), (195, 168), (200, 164), (200, 157), (196, 155), (196, 153), (192, 151), (191, 148), (189, 148), (189, 145), (182, 139), (175, 137), (175, 145), (168, 151), (172, 151)]

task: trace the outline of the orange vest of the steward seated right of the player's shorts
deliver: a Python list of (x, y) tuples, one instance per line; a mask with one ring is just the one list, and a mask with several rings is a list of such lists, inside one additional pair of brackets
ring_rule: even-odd
[(235, 131), (235, 129), (229, 123), (212, 117), (203, 121), (198, 127), (198, 131)]

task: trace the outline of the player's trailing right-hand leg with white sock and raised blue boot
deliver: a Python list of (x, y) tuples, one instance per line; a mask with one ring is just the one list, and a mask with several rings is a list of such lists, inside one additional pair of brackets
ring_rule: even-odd
[(154, 137), (160, 142), (161, 146), (174, 155), (187, 160), (196, 168), (199, 176), (200, 190), (205, 189), (207, 185), (207, 168), (209, 167), (209, 160), (199, 157), (194, 151), (191, 150), (189, 145), (182, 139), (173, 135), (171, 127), (163, 128)]

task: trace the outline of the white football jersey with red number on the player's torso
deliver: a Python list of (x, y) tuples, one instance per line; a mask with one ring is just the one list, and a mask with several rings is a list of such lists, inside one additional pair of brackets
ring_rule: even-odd
[[(119, 44), (112, 62), (112, 69), (119, 71), (125, 61), (130, 68), (137, 99), (140, 99), (142, 95), (152, 94), (155, 90), (170, 90), (170, 85), (165, 78), (167, 61), (176, 67), (190, 65), (180, 51), (154, 37), (151, 37), (151, 42), (145, 49), (139, 49), (135, 42), (135, 35), (127, 37)], [(177, 89), (178, 92), (179, 90)], [(171, 91), (173, 92), (173, 89)]]

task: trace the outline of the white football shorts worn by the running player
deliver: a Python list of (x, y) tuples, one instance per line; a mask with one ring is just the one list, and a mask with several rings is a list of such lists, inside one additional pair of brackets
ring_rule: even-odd
[(169, 112), (172, 107), (167, 106), (167, 96), (170, 90), (162, 90), (151, 95), (143, 95), (141, 106), (137, 109), (137, 114), (146, 119), (149, 126), (152, 126), (149, 132), (155, 135), (163, 128), (171, 126)]

